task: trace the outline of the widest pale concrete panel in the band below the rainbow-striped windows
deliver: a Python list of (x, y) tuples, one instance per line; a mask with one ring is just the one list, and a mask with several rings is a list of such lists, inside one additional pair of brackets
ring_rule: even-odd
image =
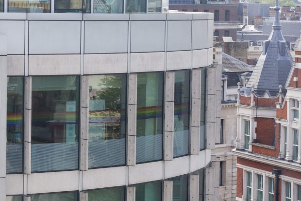
[(79, 171), (34, 173), (27, 177), (27, 193), (79, 190)]

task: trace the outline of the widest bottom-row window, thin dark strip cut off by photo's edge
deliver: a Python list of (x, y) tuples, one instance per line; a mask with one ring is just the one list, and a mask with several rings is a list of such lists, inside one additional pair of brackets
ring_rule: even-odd
[(31, 201), (78, 201), (78, 192), (35, 194)]

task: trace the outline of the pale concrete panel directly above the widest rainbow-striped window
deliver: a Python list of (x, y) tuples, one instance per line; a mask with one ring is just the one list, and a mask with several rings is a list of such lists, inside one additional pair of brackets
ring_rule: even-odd
[(80, 74), (81, 55), (29, 55), (29, 75)]

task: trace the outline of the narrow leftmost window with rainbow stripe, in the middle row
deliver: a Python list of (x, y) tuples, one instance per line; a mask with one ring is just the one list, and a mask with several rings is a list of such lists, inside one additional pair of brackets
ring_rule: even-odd
[(7, 173), (23, 172), (23, 83), (23, 77), (7, 77)]

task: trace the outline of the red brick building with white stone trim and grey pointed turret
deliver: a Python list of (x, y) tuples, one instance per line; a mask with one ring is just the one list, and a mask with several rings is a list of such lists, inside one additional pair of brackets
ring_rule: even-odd
[(301, 38), (294, 64), (277, 4), (247, 87), (238, 83), (236, 201), (301, 200)]

